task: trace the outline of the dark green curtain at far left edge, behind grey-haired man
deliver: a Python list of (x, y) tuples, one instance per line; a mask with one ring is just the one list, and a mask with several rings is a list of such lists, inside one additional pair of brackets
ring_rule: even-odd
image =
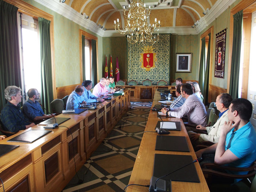
[(17, 11), (0, 0), (0, 110), (5, 105), (4, 89), (21, 86)]

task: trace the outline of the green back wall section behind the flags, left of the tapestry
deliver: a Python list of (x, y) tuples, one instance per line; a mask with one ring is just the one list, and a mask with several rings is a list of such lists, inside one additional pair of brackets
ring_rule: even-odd
[[(113, 75), (116, 70), (116, 57), (118, 57), (120, 79), (127, 79), (127, 40), (126, 37), (103, 37), (102, 39), (102, 72), (105, 77), (106, 56), (108, 64), (108, 75), (110, 75), (110, 56), (112, 56)], [(100, 63), (99, 63), (100, 65)], [(100, 76), (99, 76), (100, 78)]]

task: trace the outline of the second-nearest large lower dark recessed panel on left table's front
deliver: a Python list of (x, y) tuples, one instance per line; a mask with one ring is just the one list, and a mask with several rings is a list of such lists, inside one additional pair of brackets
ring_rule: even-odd
[(46, 183), (59, 172), (59, 157), (58, 152), (54, 153), (44, 162), (45, 165), (45, 181)]

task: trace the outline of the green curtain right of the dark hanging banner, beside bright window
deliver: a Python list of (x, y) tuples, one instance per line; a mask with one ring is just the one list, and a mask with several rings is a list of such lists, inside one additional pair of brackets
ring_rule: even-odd
[(234, 18), (234, 35), (233, 35), (233, 47), (231, 58), (231, 72), (230, 72), (230, 86), (229, 94), (233, 99), (238, 98), (238, 82), (239, 82), (239, 68), (240, 68), (240, 55), (242, 44), (242, 21), (243, 10), (233, 15)]

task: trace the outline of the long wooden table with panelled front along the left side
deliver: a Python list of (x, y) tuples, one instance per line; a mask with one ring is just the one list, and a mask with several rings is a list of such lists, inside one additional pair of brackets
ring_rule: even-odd
[(95, 110), (60, 114), (57, 117), (71, 119), (31, 144), (7, 141), (31, 129), (45, 130), (44, 126), (35, 125), (1, 140), (0, 144), (19, 145), (0, 157), (0, 178), (5, 191), (61, 191), (75, 175), (73, 158), (78, 171), (129, 109), (129, 92), (124, 90), (124, 95), (100, 103)]

